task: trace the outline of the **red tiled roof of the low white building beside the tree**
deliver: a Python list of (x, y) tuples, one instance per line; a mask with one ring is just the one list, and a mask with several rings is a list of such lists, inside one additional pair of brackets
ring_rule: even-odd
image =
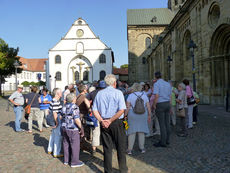
[(33, 71), (33, 72), (45, 72), (44, 65), (46, 64), (47, 58), (42, 59), (27, 59), (19, 57), (19, 61), (22, 63), (23, 70)]

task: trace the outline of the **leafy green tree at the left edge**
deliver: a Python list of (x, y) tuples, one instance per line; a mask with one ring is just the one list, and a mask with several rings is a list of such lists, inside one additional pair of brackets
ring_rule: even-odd
[[(5, 77), (15, 73), (14, 62), (19, 61), (19, 57), (17, 57), (19, 49), (15, 49), (9, 47), (6, 42), (0, 38), (0, 95), (2, 95), (2, 82), (5, 81)], [(22, 69), (17, 69), (18, 73), (21, 73)]]

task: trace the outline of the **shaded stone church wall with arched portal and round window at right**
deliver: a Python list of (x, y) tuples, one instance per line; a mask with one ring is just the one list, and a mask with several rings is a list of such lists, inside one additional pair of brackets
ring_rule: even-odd
[(168, 6), (175, 16), (148, 56), (149, 80), (156, 71), (176, 83), (187, 78), (202, 103), (223, 105), (230, 90), (230, 1), (169, 0)]

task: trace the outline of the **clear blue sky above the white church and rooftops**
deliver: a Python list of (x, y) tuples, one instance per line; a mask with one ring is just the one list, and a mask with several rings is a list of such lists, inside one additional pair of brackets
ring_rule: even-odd
[(0, 38), (19, 47), (19, 56), (48, 58), (79, 17), (115, 54), (128, 63), (127, 9), (166, 8), (168, 0), (0, 0)]

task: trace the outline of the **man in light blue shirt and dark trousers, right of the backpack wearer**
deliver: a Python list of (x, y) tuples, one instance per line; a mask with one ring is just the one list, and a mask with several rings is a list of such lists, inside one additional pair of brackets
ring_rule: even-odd
[(160, 124), (161, 140), (154, 144), (155, 147), (166, 147), (169, 145), (170, 137), (170, 101), (171, 85), (161, 78), (161, 73), (155, 73), (156, 82), (154, 83), (153, 94), (155, 95), (153, 107)]

